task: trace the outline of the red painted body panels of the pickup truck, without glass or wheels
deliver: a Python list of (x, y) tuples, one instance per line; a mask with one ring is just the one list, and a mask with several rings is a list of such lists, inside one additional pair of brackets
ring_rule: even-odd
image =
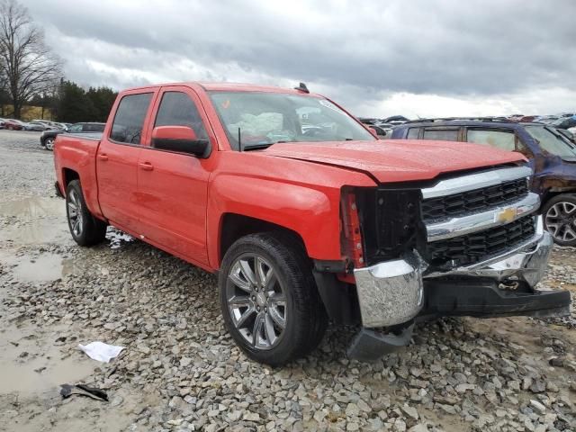
[[(206, 90), (301, 94), (227, 83), (154, 85), (122, 92), (100, 141), (58, 135), (54, 160), (60, 189), (64, 191), (67, 183), (66, 170), (76, 172), (96, 217), (215, 271), (220, 267), (220, 233), (227, 213), (292, 229), (302, 237), (310, 257), (338, 260), (343, 259), (343, 187), (426, 180), (448, 171), (521, 160), (518, 154), (488, 146), (405, 140), (285, 143), (266, 150), (233, 151)], [(193, 139), (187, 128), (153, 127), (166, 91), (184, 92), (196, 104), (211, 141), (209, 157), (151, 147), (152, 138)], [(153, 94), (141, 145), (111, 141), (121, 97), (139, 93)]]

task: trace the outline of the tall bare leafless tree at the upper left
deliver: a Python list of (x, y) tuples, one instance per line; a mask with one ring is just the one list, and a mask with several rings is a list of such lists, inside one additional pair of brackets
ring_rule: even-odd
[(15, 0), (0, 0), (0, 81), (19, 118), (23, 104), (54, 86), (61, 61), (44, 43), (44, 33)]

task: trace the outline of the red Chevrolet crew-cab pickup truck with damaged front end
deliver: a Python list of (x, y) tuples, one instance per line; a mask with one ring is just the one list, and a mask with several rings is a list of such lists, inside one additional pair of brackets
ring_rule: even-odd
[(219, 275), (229, 333), (259, 362), (359, 325), (348, 355), (406, 345), (429, 317), (560, 315), (539, 292), (550, 236), (517, 153), (378, 140), (305, 85), (124, 91), (103, 134), (58, 135), (80, 246), (112, 225)]

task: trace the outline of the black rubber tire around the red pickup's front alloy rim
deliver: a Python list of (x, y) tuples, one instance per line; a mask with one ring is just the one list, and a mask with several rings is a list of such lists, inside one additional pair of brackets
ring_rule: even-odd
[[(230, 287), (238, 289), (238, 286), (232, 282), (229, 276), (234, 268), (238, 268), (235, 266), (241, 259), (250, 259), (250, 257), (262, 258), (266, 268), (274, 271), (275, 276), (273, 277), (277, 279), (276, 289), (281, 287), (281, 293), (284, 293), (284, 329), (281, 330), (281, 334), (275, 343), (266, 348), (256, 347), (255, 331), (252, 332), (251, 342), (247, 339), (249, 337), (246, 334), (247, 329), (257, 329), (256, 325), (247, 321), (247, 329), (238, 329), (235, 323), (238, 317), (232, 318), (233, 312), (230, 310), (233, 306), (230, 305), (229, 300), (237, 296), (230, 297), (229, 290)], [(254, 263), (256, 266), (256, 261)], [(282, 232), (266, 232), (239, 238), (238, 241), (229, 247), (222, 261), (219, 285), (220, 308), (226, 328), (238, 344), (238, 347), (253, 360), (272, 366), (284, 365), (296, 358), (306, 356), (320, 344), (328, 325), (328, 317), (312, 276), (311, 260), (306, 256), (300, 242), (293, 236)], [(252, 294), (239, 291), (247, 297), (252, 296)], [(264, 293), (265, 291), (268, 291), (268, 288), (262, 288), (261, 292)], [(273, 315), (273, 307), (271, 306), (273, 301), (271, 299), (276, 294), (274, 291), (272, 293), (273, 295), (266, 300), (268, 303), (264, 303), (269, 308), (270, 316)], [(267, 295), (268, 293), (266, 293)], [(251, 302), (250, 307), (257, 308), (260, 299), (252, 298), (254, 302)], [(256, 323), (261, 313), (266, 311), (266, 308), (263, 307), (259, 311), (253, 312), (254, 323)], [(270, 322), (273, 322), (272, 319)], [(268, 333), (264, 323), (266, 323), (266, 317), (263, 318), (264, 327), (262, 328), (262, 334), (263, 336), (266, 335), (266, 339), (271, 339), (267, 338)], [(280, 329), (275, 322), (274, 325), (275, 329)]]

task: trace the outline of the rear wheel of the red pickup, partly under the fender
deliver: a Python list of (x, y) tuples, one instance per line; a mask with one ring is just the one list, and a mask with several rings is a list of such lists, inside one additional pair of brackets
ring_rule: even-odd
[(107, 225), (88, 211), (79, 180), (72, 180), (67, 185), (66, 216), (70, 234), (79, 246), (94, 246), (106, 237)]

